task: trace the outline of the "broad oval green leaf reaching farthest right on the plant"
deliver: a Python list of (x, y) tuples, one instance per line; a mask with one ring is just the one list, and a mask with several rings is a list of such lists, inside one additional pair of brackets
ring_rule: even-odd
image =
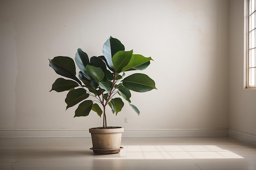
[(122, 82), (126, 88), (136, 92), (146, 92), (154, 88), (157, 89), (155, 87), (154, 80), (148, 77), (148, 75), (141, 73), (129, 75), (128, 77), (124, 78)]

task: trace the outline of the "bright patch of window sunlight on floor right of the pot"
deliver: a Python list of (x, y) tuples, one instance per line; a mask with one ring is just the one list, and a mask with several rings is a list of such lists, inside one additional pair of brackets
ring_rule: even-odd
[(241, 159), (240, 155), (213, 145), (126, 146), (119, 154), (98, 159)]

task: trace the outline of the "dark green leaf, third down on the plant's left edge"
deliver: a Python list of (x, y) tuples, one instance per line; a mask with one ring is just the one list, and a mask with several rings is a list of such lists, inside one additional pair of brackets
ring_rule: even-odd
[(84, 88), (77, 88), (67, 93), (67, 97), (65, 99), (65, 102), (67, 104), (67, 108), (70, 108), (79, 102), (83, 101), (84, 99), (88, 98), (89, 94), (86, 93), (86, 90)]

